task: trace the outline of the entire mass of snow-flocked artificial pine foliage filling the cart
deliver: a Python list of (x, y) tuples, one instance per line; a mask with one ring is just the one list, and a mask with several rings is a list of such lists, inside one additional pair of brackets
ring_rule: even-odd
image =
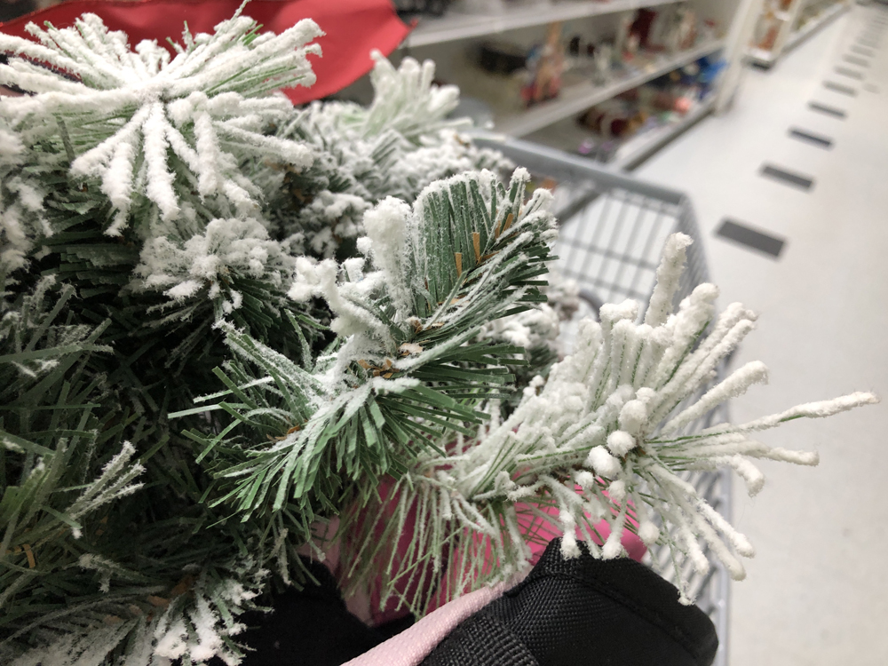
[(755, 317), (711, 285), (671, 312), (682, 236), (644, 321), (606, 305), (556, 363), (550, 195), (457, 133), (431, 63), (297, 109), (310, 20), (238, 12), (171, 57), (89, 14), (31, 34), (0, 36), (28, 92), (0, 99), (0, 662), (239, 663), (333, 519), (346, 589), (417, 613), (525, 569), (543, 523), (567, 557), (607, 519), (599, 557), (632, 530), (740, 578), (684, 472), (756, 492), (750, 459), (817, 456), (755, 432), (876, 400), (687, 432), (766, 371), (711, 385)]

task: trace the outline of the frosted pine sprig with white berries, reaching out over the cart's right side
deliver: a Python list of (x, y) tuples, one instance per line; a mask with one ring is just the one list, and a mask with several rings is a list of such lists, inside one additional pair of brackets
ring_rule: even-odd
[[(369, 521), (363, 535), (345, 535), (358, 550), (344, 557), (360, 559), (364, 536), (387, 530), (385, 538), (398, 543), (388, 526), (403, 524), (416, 511), (415, 523), (424, 527), (416, 530), (406, 561), (368, 565), (384, 572), (384, 597), (396, 594), (399, 585), (403, 589), (404, 580), (416, 581), (447, 562), (440, 589), (450, 594), (478, 581), (507, 579), (528, 566), (525, 539), (542, 525), (564, 533), (566, 557), (579, 554), (578, 538), (596, 557), (622, 556), (622, 535), (631, 530), (647, 545), (668, 545), (674, 562), (676, 556), (690, 559), (699, 573), (709, 570), (708, 549), (734, 579), (744, 577), (740, 557), (752, 557), (752, 545), (706, 503), (686, 472), (730, 467), (754, 495), (765, 481), (754, 460), (818, 463), (816, 453), (769, 447), (752, 439), (755, 432), (878, 398), (856, 392), (747, 424), (689, 429), (725, 400), (767, 379), (765, 365), (754, 361), (710, 386), (725, 357), (755, 327), (756, 315), (733, 304), (716, 317), (718, 289), (711, 284), (694, 289), (672, 312), (690, 242), (682, 234), (667, 242), (643, 322), (633, 301), (604, 305), (600, 323), (582, 322), (574, 353), (549, 377), (531, 381), (510, 416), (503, 419), (491, 403), (490, 420), (476, 438), (441, 442), (449, 455), (424, 455), (390, 493), (412, 499), (384, 505), (379, 520), (385, 523)], [(543, 513), (546, 508), (557, 515)], [(594, 527), (602, 519), (610, 528), (607, 539)], [(350, 574), (360, 577), (364, 564), (353, 567)], [(678, 564), (676, 575), (681, 599), (690, 603)], [(430, 599), (416, 592), (403, 600), (424, 607)]]

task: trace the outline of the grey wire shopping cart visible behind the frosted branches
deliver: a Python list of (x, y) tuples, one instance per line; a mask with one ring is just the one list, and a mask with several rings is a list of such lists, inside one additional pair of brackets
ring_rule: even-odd
[[(554, 181), (555, 210), (560, 220), (556, 268), (579, 283), (583, 300), (594, 311), (603, 303), (633, 298), (642, 305), (639, 316), (644, 316), (666, 238), (676, 232), (694, 239), (687, 248), (687, 269), (676, 304), (694, 287), (709, 281), (694, 209), (685, 194), (519, 139), (486, 134), (476, 138), (476, 143), (496, 148), (536, 178)], [(715, 381), (725, 376), (725, 365), (718, 369)], [(701, 393), (689, 400), (699, 399)], [(723, 404), (687, 426), (685, 434), (726, 420), (727, 406)], [(728, 471), (687, 472), (686, 480), (726, 519), (731, 518)], [(674, 562), (665, 545), (651, 548), (646, 564), (670, 581), (675, 579), (676, 567), (682, 571), (697, 605), (716, 625), (719, 646), (714, 664), (725, 666), (730, 576), (718, 559), (709, 552), (707, 557), (711, 562), (707, 575), (696, 574), (686, 559)]]

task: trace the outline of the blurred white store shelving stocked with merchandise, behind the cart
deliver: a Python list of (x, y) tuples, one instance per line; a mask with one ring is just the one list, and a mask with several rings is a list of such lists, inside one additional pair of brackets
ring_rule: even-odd
[[(440, 83), (461, 90), (457, 114), (486, 131), (628, 170), (731, 99), (749, 42), (749, 2), (439, 1), (440, 15), (402, 14), (414, 28), (392, 60), (434, 60)], [(528, 99), (555, 44), (557, 83)], [(491, 66), (490, 52), (515, 63)], [(674, 108), (650, 103), (664, 97)]]

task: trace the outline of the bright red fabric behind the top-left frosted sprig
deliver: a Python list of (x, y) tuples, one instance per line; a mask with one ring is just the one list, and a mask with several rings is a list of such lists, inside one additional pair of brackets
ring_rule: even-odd
[[(67, 28), (84, 12), (92, 12), (108, 28), (126, 32), (131, 46), (143, 39), (165, 44), (167, 37), (180, 43), (185, 21), (192, 33), (211, 33), (240, 5), (241, 0), (72, 0), (0, 23), (0, 31), (24, 37), (31, 21)], [(252, 0), (243, 13), (265, 31), (281, 33), (299, 20), (313, 19), (327, 33), (317, 41), (323, 57), (311, 57), (317, 83), (285, 91), (294, 104), (326, 97), (354, 83), (373, 67), (370, 51), (388, 55), (409, 32), (390, 0)]]

